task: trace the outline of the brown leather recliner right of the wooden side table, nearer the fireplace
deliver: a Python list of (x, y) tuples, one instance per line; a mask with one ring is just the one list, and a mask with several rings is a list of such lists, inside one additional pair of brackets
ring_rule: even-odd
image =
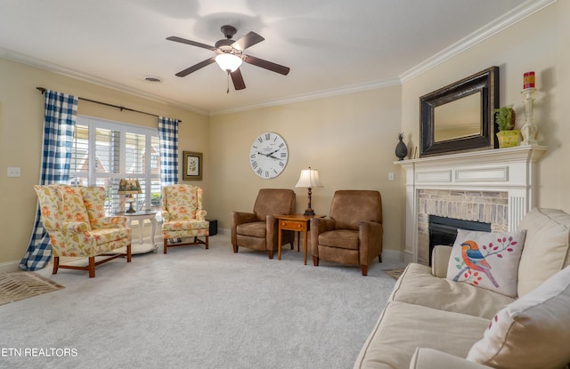
[(339, 190), (330, 205), (330, 219), (311, 220), (314, 266), (319, 260), (360, 265), (362, 276), (377, 256), (382, 262), (382, 197), (379, 191)]

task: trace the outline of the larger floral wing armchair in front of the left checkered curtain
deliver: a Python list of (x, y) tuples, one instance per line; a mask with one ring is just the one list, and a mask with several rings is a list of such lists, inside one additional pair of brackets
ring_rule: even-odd
[[(34, 189), (52, 245), (53, 274), (59, 268), (81, 269), (95, 277), (95, 266), (125, 255), (116, 251), (122, 247), (126, 247), (126, 261), (131, 261), (131, 229), (126, 227), (126, 217), (105, 216), (104, 188), (52, 184)], [(102, 255), (110, 257), (95, 261), (95, 256)], [(88, 258), (88, 265), (60, 265), (60, 257)]]

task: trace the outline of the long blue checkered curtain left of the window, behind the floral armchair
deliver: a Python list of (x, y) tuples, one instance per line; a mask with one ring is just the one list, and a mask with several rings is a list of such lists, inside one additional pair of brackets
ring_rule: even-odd
[[(77, 120), (77, 97), (45, 90), (44, 155), (40, 184), (67, 183), (73, 131)], [(39, 205), (28, 251), (20, 261), (20, 269), (45, 267), (52, 257), (52, 245), (40, 221)]]

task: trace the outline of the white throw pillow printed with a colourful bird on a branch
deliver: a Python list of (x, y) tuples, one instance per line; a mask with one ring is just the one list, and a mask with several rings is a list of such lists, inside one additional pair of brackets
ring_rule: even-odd
[(457, 230), (447, 278), (517, 297), (518, 262), (525, 230), (479, 232)]

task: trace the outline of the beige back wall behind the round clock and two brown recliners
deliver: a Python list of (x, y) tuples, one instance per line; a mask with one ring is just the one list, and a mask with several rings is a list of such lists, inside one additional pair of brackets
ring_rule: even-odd
[[(297, 212), (307, 206), (307, 189), (295, 189), (302, 169), (319, 170), (323, 188), (313, 189), (312, 207), (329, 214), (337, 189), (377, 189), (382, 194), (387, 249), (399, 251), (399, 206), (402, 184), (388, 181), (395, 172), (400, 126), (401, 88), (351, 93), (272, 108), (211, 117), (210, 156), (214, 167), (208, 214), (218, 227), (230, 228), (232, 211), (250, 212), (262, 188), (294, 189)], [(263, 132), (280, 133), (289, 148), (289, 163), (273, 180), (256, 176), (249, 166), (249, 148)], [(209, 216), (209, 215), (208, 215)]]

